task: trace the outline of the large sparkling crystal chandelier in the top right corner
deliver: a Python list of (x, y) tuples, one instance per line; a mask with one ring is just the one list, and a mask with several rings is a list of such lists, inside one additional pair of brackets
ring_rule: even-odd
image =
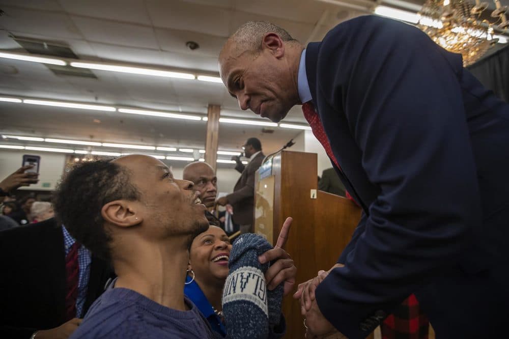
[(475, 0), (427, 0), (418, 13), (419, 28), (433, 41), (448, 51), (463, 56), (463, 66), (468, 66), (483, 56), (496, 43), (494, 27), (505, 31), (509, 27), (507, 6), (494, 0), (496, 9), (491, 13), (494, 22), (481, 19), (488, 3)]

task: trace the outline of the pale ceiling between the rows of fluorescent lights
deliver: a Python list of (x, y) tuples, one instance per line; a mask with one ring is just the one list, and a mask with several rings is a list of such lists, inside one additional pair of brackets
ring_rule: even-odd
[[(344, 0), (355, 1), (361, 0)], [(248, 20), (279, 24), (305, 43), (320, 40), (335, 24), (362, 14), (318, 0), (0, 0), (0, 9), (5, 12), (0, 16), (0, 50), (23, 52), (15, 36), (68, 46), (84, 60), (214, 73), (223, 43)], [(185, 43), (190, 40), (200, 48), (188, 49)], [(97, 79), (57, 76), (43, 64), (0, 59), (0, 95), (199, 114), (206, 114), (208, 104), (219, 104), (221, 116), (256, 118), (240, 111), (220, 83), (92, 72)], [(0, 102), (0, 112), (3, 133), (205, 146), (206, 122), (6, 102)], [(294, 107), (286, 121), (304, 123), (300, 107)], [(240, 149), (247, 137), (257, 136), (269, 153), (299, 132), (274, 128), (269, 134), (258, 126), (221, 123), (219, 149)]]

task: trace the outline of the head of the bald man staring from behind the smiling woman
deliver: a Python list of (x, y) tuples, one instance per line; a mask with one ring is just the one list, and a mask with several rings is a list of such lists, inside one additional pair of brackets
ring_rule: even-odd
[(184, 167), (182, 179), (194, 183), (194, 188), (200, 191), (200, 200), (206, 207), (214, 207), (217, 195), (217, 177), (212, 166), (206, 162), (191, 162)]

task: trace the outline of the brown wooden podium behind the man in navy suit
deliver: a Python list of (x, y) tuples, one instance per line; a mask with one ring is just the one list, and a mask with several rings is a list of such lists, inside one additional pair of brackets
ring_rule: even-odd
[[(254, 232), (274, 244), (285, 219), (293, 217), (286, 251), (297, 267), (297, 285), (329, 269), (350, 241), (361, 209), (350, 200), (318, 191), (317, 154), (282, 151), (257, 171)], [(285, 297), (286, 338), (303, 338), (300, 303)]]

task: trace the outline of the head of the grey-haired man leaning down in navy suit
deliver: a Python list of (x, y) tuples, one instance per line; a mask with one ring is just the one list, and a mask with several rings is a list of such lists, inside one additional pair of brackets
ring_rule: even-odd
[(219, 54), (219, 74), (242, 110), (279, 122), (300, 103), (297, 74), (302, 46), (266, 21), (249, 21)]

